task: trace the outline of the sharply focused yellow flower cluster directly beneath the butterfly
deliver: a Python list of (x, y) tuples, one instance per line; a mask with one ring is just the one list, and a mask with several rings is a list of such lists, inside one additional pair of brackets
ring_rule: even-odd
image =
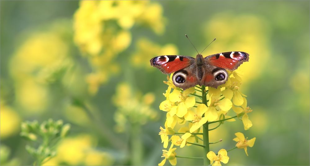
[[(205, 123), (219, 123), (218, 126), (220, 126), (224, 121), (235, 121), (234, 118), (239, 118), (242, 120), (245, 130), (248, 130), (252, 126), (252, 122), (248, 116), (248, 113), (252, 112), (252, 109), (247, 106), (246, 96), (240, 92), (242, 81), (240, 72), (238, 70), (228, 71), (228, 74), (228, 81), (218, 88), (206, 87), (206, 89), (203, 89), (202, 87), (195, 86), (184, 91), (174, 86), (171, 80), (173, 74), (170, 77), (167, 76), (168, 81), (164, 81), (168, 85), (168, 89), (164, 93), (166, 100), (159, 105), (159, 109), (166, 112), (164, 128), (160, 127), (159, 132), (162, 143), (164, 143), (164, 148), (168, 147), (170, 140), (171, 146), (180, 146), (180, 148), (185, 145), (195, 145), (199, 140), (202, 140), (201, 135), (204, 133), (199, 133), (199, 131), (201, 131), (201, 126)], [(203, 91), (207, 93), (206, 104), (201, 101)], [(236, 113), (235, 116), (228, 115), (231, 109)], [(177, 124), (183, 125), (183, 127), (178, 132), (175, 132), (174, 129)], [(182, 136), (179, 137), (175, 134), (182, 134)], [(235, 148), (244, 148), (247, 154), (246, 147), (252, 147), (255, 138), (247, 141), (243, 134), (242, 136), (240, 134), (242, 133), (236, 133), (237, 138), (234, 140), (238, 143)], [(172, 135), (170, 139), (169, 135)], [(203, 145), (198, 144), (198, 146)], [(170, 147), (169, 151), (171, 149)], [(176, 148), (173, 148), (174, 153), (175, 150)], [(162, 156), (165, 159), (159, 165), (163, 165), (165, 160), (173, 160), (173, 163), (170, 163), (176, 164), (176, 161), (174, 162), (175, 158), (173, 156), (171, 157), (171, 153), (169, 154), (167, 152)], [(210, 151), (207, 157), (210, 161), (214, 161), (213, 165), (221, 165), (220, 161), (227, 163), (229, 160), (225, 149), (220, 150), (217, 155), (213, 151)]]

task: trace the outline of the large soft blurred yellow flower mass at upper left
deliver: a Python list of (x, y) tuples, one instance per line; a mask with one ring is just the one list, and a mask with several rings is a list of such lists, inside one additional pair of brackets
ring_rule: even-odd
[(46, 30), (30, 33), (10, 60), (16, 102), (28, 113), (42, 112), (49, 102), (49, 83), (72, 67), (67, 37), (70, 22), (57, 20)]

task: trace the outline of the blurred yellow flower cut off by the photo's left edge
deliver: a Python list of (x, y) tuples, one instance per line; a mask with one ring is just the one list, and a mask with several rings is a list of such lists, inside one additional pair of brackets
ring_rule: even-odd
[(20, 116), (11, 107), (0, 104), (0, 138), (5, 139), (20, 130)]

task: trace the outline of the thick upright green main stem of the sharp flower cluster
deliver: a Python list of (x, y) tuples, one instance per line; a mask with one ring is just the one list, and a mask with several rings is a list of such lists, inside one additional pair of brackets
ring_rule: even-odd
[[(204, 92), (205, 86), (202, 85), (201, 89), (203, 89), (202, 92), (202, 103), (207, 104), (207, 93)], [(209, 124), (208, 122), (203, 125), (203, 139), (204, 139), (204, 165), (210, 165), (210, 160), (207, 158), (207, 153), (210, 151), (209, 147)]]

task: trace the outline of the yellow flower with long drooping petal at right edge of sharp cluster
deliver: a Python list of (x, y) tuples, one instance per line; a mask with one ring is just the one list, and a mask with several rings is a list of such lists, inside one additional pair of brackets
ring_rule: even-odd
[(241, 107), (232, 106), (232, 109), (237, 113), (238, 115), (242, 115), (242, 122), (244, 126), (244, 130), (248, 130), (250, 127), (253, 126), (252, 121), (249, 120), (248, 113), (252, 112), (253, 110), (250, 109), (250, 107), (247, 107), (247, 100), (245, 97), (243, 98), (244, 103), (241, 105)]

